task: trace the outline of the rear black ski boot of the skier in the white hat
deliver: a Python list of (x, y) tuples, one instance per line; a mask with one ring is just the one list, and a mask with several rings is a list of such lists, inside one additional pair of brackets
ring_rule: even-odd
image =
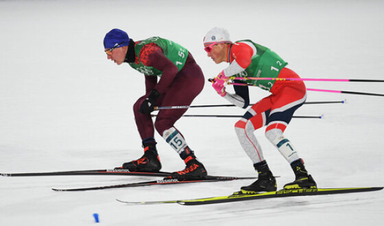
[(293, 161), (291, 167), (295, 173), (296, 179), (291, 183), (285, 184), (284, 189), (317, 188), (315, 180), (308, 174), (301, 158)]

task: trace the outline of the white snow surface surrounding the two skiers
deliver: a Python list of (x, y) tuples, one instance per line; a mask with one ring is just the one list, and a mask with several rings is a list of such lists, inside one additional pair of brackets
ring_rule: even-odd
[[(0, 1), (0, 172), (112, 168), (142, 154), (132, 104), (143, 76), (106, 60), (113, 28), (134, 40), (161, 36), (187, 47), (206, 78), (214, 64), (202, 49), (212, 27), (250, 38), (289, 62), (301, 77), (384, 79), (384, 1)], [(383, 84), (307, 82), (308, 88), (384, 93)], [(252, 88), (252, 102), (268, 95)], [(383, 186), (383, 97), (309, 92), (286, 136), (322, 188)], [(193, 104), (226, 104), (208, 82)], [(187, 114), (243, 114), (239, 108)], [(237, 142), (236, 118), (182, 118), (182, 131), (211, 175), (254, 176)], [(256, 131), (278, 187), (289, 164)], [(184, 167), (156, 134), (163, 171)], [(205, 206), (125, 205), (115, 201), (188, 199), (230, 194), (246, 181), (54, 192), (145, 181), (146, 177), (3, 177), (0, 225), (384, 225), (384, 192), (289, 197)]]

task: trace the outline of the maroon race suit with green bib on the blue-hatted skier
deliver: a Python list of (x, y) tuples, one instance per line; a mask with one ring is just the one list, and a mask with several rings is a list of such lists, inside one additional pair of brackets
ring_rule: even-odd
[[(153, 123), (150, 114), (141, 114), (141, 103), (155, 89), (160, 93), (156, 106), (190, 105), (204, 87), (202, 69), (187, 49), (176, 42), (160, 37), (147, 38), (128, 47), (126, 60), (145, 75), (145, 95), (134, 103), (134, 116), (142, 140), (154, 137), (154, 127), (163, 136), (163, 131), (173, 124), (187, 109), (160, 110)], [(158, 79), (159, 78), (159, 79)]]

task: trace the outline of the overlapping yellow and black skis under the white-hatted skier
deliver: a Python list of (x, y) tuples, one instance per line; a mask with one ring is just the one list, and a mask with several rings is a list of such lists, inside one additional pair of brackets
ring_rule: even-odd
[(202, 199), (184, 199), (184, 200), (169, 200), (169, 201), (117, 201), (128, 204), (162, 204), (162, 203), (178, 203), (181, 205), (205, 205), (213, 203), (230, 203), (235, 201), (247, 201), (253, 199), (269, 199), (280, 197), (307, 196), (307, 195), (324, 195), (324, 194), (345, 194), (352, 192), (369, 192), (374, 190), (382, 190), (383, 187), (368, 187), (368, 188), (304, 188), (304, 189), (287, 189), (278, 190), (276, 192), (264, 192), (260, 194), (239, 194), (235, 192), (222, 197), (210, 197)]

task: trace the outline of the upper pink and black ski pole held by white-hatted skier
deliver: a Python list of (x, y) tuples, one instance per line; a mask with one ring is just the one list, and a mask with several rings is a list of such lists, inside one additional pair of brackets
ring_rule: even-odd
[(270, 81), (350, 81), (350, 82), (384, 82), (379, 79), (313, 79), (294, 77), (229, 77), (230, 80), (270, 80)]

